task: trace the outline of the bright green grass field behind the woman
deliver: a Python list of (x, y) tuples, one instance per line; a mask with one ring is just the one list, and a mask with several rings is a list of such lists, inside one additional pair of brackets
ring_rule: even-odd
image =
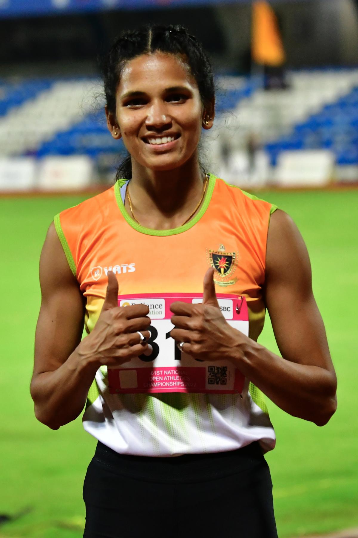
[[(259, 195), (294, 218), (308, 245), (313, 288), (339, 381), (338, 410), (324, 428), (269, 403), (277, 446), (267, 460), (279, 536), (358, 527), (358, 190)], [(57, 431), (36, 422), (28, 388), (40, 306), (41, 246), (53, 216), (82, 199), (0, 199), (0, 252), (6, 269), (1, 287), (0, 513), (31, 509), (1, 526), (2, 537), (82, 536), (82, 483), (96, 442), (84, 433), (81, 420)], [(277, 351), (268, 318), (260, 342)]]

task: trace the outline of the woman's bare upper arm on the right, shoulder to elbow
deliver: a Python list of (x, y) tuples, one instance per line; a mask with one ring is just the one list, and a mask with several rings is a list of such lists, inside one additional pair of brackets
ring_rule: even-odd
[(281, 210), (272, 214), (268, 229), (265, 302), (282, 357), (334, 372), (308, 251), (296, 224)]

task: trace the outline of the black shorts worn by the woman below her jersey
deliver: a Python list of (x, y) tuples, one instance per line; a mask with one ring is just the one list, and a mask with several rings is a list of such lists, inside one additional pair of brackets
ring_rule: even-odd
[(98, 443), (83, 499), (85, 538), (277, 538), (258, 443), (169, 458), (120, 455)]

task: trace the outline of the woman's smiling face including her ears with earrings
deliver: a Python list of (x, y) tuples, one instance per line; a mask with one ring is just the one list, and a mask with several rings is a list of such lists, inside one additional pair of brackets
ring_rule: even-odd
[(107, 114), (107, 122), (112, 136), (123, 138), (132, 160), (165, 171), (198, 158), (201, 129), (212, 126), (210, 112), (205, 123), (209, 116), (186, 64), (156, 52), (137, 56), (123, 68), (116, 117)]

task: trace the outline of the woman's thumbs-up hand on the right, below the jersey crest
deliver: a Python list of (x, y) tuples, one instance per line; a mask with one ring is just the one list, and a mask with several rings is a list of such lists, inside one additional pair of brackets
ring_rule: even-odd
[[(210, 267), (204, 276), (203, 302), (192, 305), (174, 302), (171, 322), (175, 328), (171, 336), (185, 342), (182, 351), (200, 360), (234, 360), (240, 343), (247, 336), (234, 329), (225, 320), (218, 305), (214, 285), (214, 269)], [(236, 351), (236, 353), (235, 353)]]

